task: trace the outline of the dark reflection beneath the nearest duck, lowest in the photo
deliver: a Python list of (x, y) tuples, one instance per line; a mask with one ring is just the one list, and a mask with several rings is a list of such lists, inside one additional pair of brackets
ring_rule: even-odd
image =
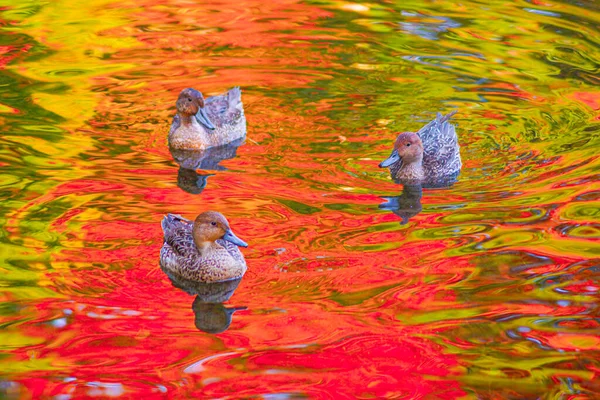
[(222, 333), (229, 329), (233, 313), (247, 307), (225, 307), (223, 303), (233, 296), (242, 278), (224, 282), (201, 283), (178, 277), (165, 269), (169, 280), (178, 289), (196, 295), (192, 303), (194, 325), (206, 333)]

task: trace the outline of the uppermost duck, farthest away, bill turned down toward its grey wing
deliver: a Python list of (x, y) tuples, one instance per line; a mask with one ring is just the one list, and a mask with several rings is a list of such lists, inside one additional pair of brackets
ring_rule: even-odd
[(206, 101), (196, 89), (183, 89), (175, 105), (177, 114), (169, 130), (169, 147), (173, 149), (204, 150), (246, 136), (239, 87)]

